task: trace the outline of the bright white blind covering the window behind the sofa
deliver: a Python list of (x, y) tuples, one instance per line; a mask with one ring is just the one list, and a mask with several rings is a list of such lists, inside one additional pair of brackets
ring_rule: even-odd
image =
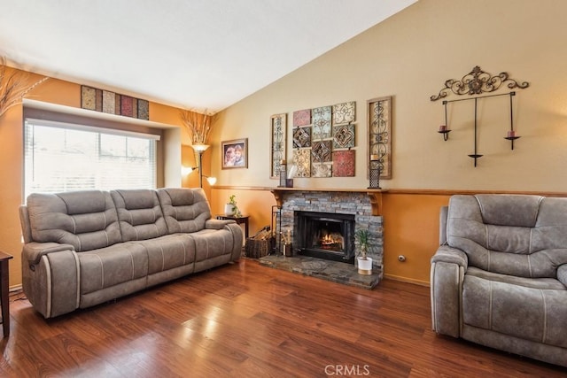
[(34, 192), (156, 188), (159, 135), (26, 119), (25, 197)]

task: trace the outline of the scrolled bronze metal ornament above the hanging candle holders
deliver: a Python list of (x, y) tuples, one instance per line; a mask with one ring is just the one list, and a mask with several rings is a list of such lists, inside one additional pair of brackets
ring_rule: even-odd
[(470, 73), (462, 76), (461, 80), (449, 79), (445, 81), (445, 88), (439, 90), (439, 95), (431, 96), (431, 101), (437, 101), (439, 98), (445, 98), (450, 92), (455, 95), (482, 95), (490, 93), (501, 88), (507, 83), (509, 89), (525, 89), (530, 86), (527, 81), (517, 82), (509, 78), (508, 73), (485, 73), (479, 66), (475, 66)]

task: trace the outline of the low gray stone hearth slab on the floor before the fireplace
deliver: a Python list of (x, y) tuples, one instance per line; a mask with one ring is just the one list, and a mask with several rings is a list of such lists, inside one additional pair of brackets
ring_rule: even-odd
[(263, 266), (304, 274), (362, 289), (374, 289), (378, 282), (380, 282), (380, 277), (382, 276), (382, 272), (361, 275), (357, 273), (357, 269), (352, 264), (324, 260), (321, 258), (311, 258), (308, 256), (283, 257), (282, 255), (268, 255), (260, 258), (259, 262)]

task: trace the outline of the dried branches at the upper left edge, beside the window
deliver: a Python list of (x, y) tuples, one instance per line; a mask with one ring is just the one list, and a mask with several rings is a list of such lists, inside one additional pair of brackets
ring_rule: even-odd
[(12, 73), (7, 75), (6, 58), (0, 57), (0, 117), (12, 106), (21, 103), (27, 93), (49, 79), (44, 77), (35, 84), (27, 87), (25, 82), (29, 79), (27, 73)]

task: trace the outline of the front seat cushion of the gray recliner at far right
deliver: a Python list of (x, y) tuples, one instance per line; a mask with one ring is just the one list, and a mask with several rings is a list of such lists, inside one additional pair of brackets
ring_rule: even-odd
[(567, 348), (567, 290), (536, 289), (465, 274), (465, 324)]

